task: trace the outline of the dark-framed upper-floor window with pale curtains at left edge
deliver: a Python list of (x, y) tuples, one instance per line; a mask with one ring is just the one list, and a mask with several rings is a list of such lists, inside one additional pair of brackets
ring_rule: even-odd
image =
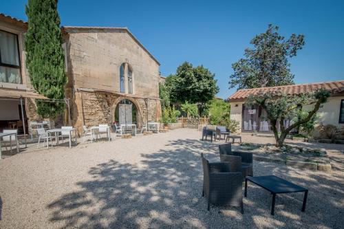
[(17, 34), (0, 30), (0, 82), (21, 84)]

